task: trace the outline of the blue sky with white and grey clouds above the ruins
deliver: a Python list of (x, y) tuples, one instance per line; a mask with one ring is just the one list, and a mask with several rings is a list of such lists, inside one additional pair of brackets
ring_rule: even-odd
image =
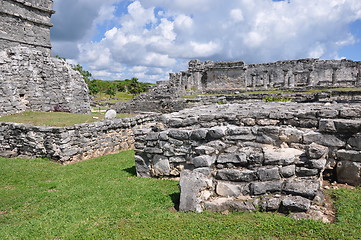
[(155, 82), (191, 59), (361, 60), (360, 0), (54, 0), (53, 54)]

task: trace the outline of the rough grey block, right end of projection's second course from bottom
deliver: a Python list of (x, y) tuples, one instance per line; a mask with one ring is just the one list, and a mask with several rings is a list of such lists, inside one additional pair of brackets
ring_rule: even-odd
[(282, 191), (287, 194), (299, 195), (309, 199), (313, 199), (320, 190), (320, 182), (318, 180), (286, 180)]

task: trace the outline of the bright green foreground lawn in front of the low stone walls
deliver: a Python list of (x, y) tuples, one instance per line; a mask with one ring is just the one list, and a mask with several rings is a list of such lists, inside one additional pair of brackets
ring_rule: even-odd
[(135, 177), (133, 154), (66, 166), (0, 158), (0, 239), (360, 239), (361, 189), (332, 190), (335, 224), (179, 213), (178, 182)]

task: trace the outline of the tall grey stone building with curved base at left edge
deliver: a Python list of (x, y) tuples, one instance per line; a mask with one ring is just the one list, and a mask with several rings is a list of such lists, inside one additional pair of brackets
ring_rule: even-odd
[(52, 0), (0, 0), (0, 116), (90, 109), (88, 88), (64, 60), (51, 57)]

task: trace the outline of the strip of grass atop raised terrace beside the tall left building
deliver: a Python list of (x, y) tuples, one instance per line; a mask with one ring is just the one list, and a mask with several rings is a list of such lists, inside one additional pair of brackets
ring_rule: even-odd
[[(26, 123), (34, 126), (65, 127), (80, 123), (96, 122), (104, 119), (104, 114), (77, 114), (63, 112), (23, 112), (0, 117), (0, 122)], [(132, 117), (131, 114), (118, 114), (117, 117)]]

